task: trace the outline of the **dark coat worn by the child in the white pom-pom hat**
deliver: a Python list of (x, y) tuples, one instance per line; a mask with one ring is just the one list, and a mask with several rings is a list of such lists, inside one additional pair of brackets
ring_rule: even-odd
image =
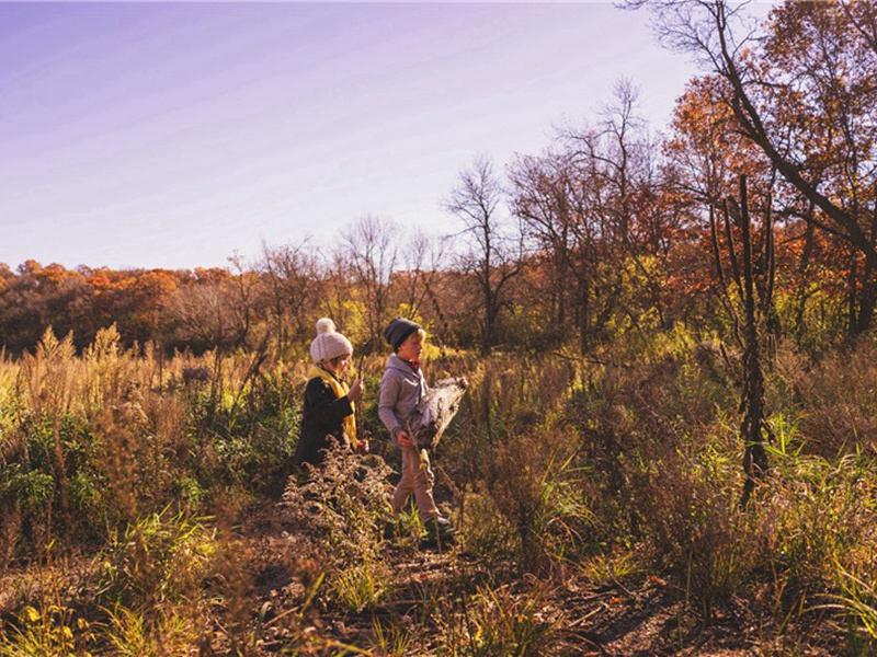
[(346, 442), (341, 420), (352, 413), (353, 406), (346, 395), (339, 399), (323, 379), (310, 379), (305, 388), (301, 431), (293, 462), (299, 468), (304, 463), (322, 463), (323, 450), (329, 447), (329, 436), (341, 443)]

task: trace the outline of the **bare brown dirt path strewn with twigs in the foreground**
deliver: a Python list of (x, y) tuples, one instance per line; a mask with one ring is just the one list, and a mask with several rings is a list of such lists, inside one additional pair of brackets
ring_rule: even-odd
[[(430, 623), (435, 610), (425, 591), (436, 587), (459, 587), (464, 580), (496, 578), (498, 572), (514, 580), (506, 564), (487, 564), (459, 549), (448, 552), (387, 548), (396, 577), (388, 601), (360, 613), (327, 608), (317, 596), (303, 612), (303, 599), (319, 577), (319, 555), (304, 551), (305, 542), (284, 522), (274, 504), (248, 514), (240, 528), (247, 546), (246, 564), (251, 580), (249, 607), (260, 618), (257, 626), (259, 654), (277, 654), (304, 637), (321, 636), (340, 644), (367, 648), (375, 645), (377, 621), (392, 623), (400, 631), (419, 630)], [(533, 584), (533, 583), (531, 583)], [(714, 618), (704, 625), (697, 614), (686, 611), (683, 596), (657, 577), (628, 588), (619, 583), (602, 587), (574, 577), (553, 585), (544, 598), (544, 613), (557, 622), (551, 654), (646, 657), (670, 655), (743, 656), (764, 654), (838, 655), (811, 645), (798, 635), (778, 641), (774, 629), (759, 622), (742, 601), (717, 604)], [(421, 597), (419, 597), (419, 595)], [(818, 643), (818, 642), (817, 642)], [(300, 645), (300, 644), (299, 644)], [(318, 654), (334, 654), (329, 649)], [(428, 655), (429, 647), (408, 648), (405, 655)]]

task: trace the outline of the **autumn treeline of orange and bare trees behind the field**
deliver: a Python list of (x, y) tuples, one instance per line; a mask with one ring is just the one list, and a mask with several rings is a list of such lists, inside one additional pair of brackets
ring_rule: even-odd
[[(738, 263), (717, 254), (733, 252), (741, 220), (724, 229), (721, 217), (742, 176), (753, 250), (768, 254), (754, 263), (756, 276), (771, 273), (768, 331), (804, 347), (867, 331), (877, 303), (872, 3), (786, 3), (751, 42), (725, 3), (688, 3), (687, 22), (673, 3), (645, 4), (671, 45), (714, 69), (688, 83), (664, 135), (619, 81), (591, 122), (559, 128), (544, 152), (504, 171), (488, 157), (464, 169), (442, 200), (458, 222), (453, 238), (365, 216), (328, 246), (266, 246), (225, 269), (0, 266), (0, 342), (20, 353), (52, 325), (81, 347), (115, 323), (126, 344), (284, 350), (328, 314), (368, 350), (400, 313), (482, 353), (593, 353), (677, 323), (722, 332), (732, 320), (714, 292)], [(715, 38), (694, 38), (698, 25)]]

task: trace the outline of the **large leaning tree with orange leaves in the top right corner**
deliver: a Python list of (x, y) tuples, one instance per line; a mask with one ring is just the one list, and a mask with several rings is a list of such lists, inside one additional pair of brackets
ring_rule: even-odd
[[(638, 0), (670, 47), (726, 83), (737, 128), (798, 195), (800, 219), (850, 245), (848, 333), (877, 304), (877, 19), (868, 0), (787, 1), (761, 41), (729, 0)], [(812, 208), (812, 212), (806, 211)]]

